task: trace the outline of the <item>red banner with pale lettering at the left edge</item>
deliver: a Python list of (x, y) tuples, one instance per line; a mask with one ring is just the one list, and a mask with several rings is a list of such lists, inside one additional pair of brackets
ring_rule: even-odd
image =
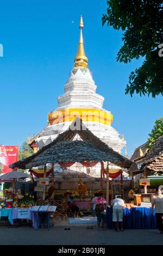
[(0, 145), (0, 174), (11, 172), (9, 164), (17, 162), (18, 146), (1, 146)]

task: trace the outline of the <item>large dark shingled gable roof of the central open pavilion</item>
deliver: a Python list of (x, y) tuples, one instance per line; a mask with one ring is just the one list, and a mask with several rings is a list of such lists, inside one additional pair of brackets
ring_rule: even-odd
[[(83, 141), (73, 140), (77, 135)], [(133, 163), (114, 151), (86, 128), (82, 119), (73, 120), (70, 127), (60, 133), (53, 142), (22, 161), (10, 164), (10, 168), (28, 169), (46, 163), (109, 161), (117, 166), (129, 168)]]

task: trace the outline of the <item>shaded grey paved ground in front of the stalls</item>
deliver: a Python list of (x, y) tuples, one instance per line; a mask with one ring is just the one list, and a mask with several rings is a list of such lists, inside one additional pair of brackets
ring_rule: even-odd
[(163, 234), (155, 229), (87, 230), (86, 227), (0, 227), (0, 245), (163, 245)]

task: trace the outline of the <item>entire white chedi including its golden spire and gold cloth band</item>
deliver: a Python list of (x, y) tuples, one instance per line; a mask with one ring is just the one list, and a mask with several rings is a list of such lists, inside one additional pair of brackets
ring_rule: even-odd
[[(111, 126), (113, 116), (110, 111), (103, 108), (104, 97), (96, 93), (97, 86), (88, 68), (82, 34), (84, 28), (82, 16), (79, 28), (80, 39), (78, 52), (74, 59), (74, 68), (65, 84), (64, 94), (58, 97), (58, 108), (48, 113), (48, 125), (37, 136), (32, 139), (29, 137), (28, 144), (36, 152), (37, 149), (51, 143), (60, 133), (67, 130), (72, 121), (79, 117), (94, 135), (121, 154), (122, 149), (126, 147), (126, 141)], [(79, 137), (75, 139), (80, 140)], [(89, 171), (92, 176), (98, 178), (100, 170), (100, 163), (89, 170), (79, 163), (67, 168), (61, 168), (59, 164), (55, 164), (55, 173), (58, 173), (58, 179), (61, 173), (74, 171), (85, 174)]]

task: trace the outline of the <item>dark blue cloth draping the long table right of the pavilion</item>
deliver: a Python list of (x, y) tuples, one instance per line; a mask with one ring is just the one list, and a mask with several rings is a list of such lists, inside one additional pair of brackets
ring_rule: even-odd
[[(108, 228), (114, 228), (114, 223), (112, 222), (112, 208), (108, 206), (106, 214), (102, 214), (102, 218), (106, 222)], [(156, 229), (155, 210), (153, 210), (152, 215), (151, 208), (124, 208), (123, 225), (126, 229)]]

